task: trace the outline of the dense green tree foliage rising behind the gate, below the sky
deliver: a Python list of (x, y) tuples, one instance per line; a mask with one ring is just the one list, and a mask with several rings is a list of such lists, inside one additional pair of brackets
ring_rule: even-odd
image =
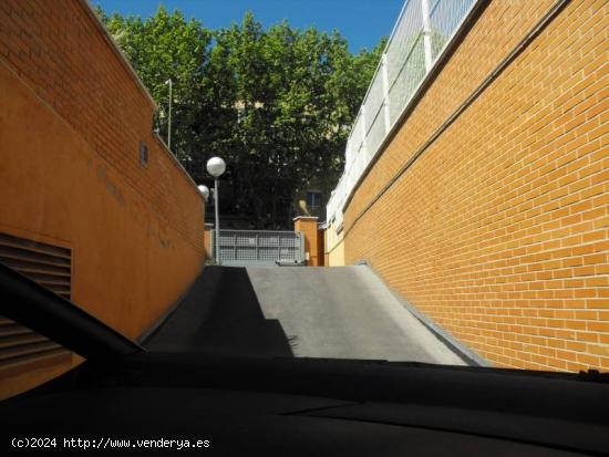
[(250, 12), (214, 31), (163, 7), (146, 20), (97, 13), (162, 107), (163, 137), (172, 79), (178, 159), (203, 181), (206, 160), (223, 157), (235, 209), (257, 227), (288, 227), (302, 186), (336, 183), (384, 40), (351, 54), (338, 31), (264, 29)]

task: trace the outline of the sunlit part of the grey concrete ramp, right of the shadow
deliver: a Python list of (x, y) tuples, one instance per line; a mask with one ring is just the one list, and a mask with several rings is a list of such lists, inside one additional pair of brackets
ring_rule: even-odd
[(464, 365), (368, 267), (248, 268), (296, 356)]

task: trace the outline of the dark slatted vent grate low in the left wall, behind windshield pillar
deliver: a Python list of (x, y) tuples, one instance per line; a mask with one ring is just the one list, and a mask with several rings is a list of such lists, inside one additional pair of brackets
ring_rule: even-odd
[[(68, 300), (72, 292), (72, 252), (0, 233), (0, 262)], [(72, 354), (34, 331), (0, 316), (0, 378), (69, 361)]]

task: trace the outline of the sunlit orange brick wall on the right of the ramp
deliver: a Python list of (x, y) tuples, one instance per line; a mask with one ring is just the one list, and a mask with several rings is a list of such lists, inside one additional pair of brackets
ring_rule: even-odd
[(554, 3), (484, 9), (353, 194), (345, 263), (498, 366), (609, 370), (606, 1), (570, 1), (383, 189)]

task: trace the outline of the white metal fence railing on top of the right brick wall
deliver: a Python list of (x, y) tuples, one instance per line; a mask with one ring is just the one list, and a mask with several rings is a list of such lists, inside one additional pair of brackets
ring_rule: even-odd
[(344, 204), (360, 176), (477, 1), (405, 0), (347, 142), (328, 221), (342, 224)]

